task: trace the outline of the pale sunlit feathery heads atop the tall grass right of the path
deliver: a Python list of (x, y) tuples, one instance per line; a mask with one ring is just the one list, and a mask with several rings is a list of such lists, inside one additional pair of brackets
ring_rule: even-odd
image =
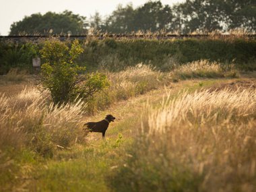
[(168, 130), (166, 126), (237, 124), (255, 115), (256, 90), (203, 90), (193, 94), (185, 92), (171, 101), (167, 98), (160, 110), (151, 113), (148, 125), (150, 133), (156, 130), (164, 133)]

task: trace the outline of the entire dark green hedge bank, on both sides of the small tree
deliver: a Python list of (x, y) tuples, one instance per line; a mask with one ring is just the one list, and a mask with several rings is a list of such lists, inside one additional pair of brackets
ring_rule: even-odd
[[(32, 57), (44, 42), (0, 43), (0, 73), (11, 67), (31, 69)], [(245, 39), (104, 39), (86, 40), (85, 52), (79, 57), (79, 64), (89, 69), (107, 68), (113, 71), (139, 62), (151, 63), (159, 69), (170, 69), (173, 62), (187, 63), (210, 59), (221, 63), (235, 63), (245, 70), (256, 69), (256, 40)], [(67, 41), (67, 44), (70, 44)], [(170, 62), (171, 61), (171, 62)]]

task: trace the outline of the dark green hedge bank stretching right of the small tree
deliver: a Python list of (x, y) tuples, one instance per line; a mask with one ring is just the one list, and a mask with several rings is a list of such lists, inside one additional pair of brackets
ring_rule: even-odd
[[(210, 59), (222, 63), (236, 63), (247, 69), (256, 64), (256, 40), (93, 40), (88, 42), (81, 62), (88, 66), (98, 67), (106, 63), (106, 67), (135, 65), (136, 63), (152, 63), (165, 69), (170, 59), (179, 63), (187, 63), (200, 59)], [(112, 57), (110, 57), (112, 56)], [(108, 61), (110, 60), (110, 61)], [(114, 66), (119, 61), (119, 66)], [(164, 67), (165, 66), (165, 67)], [(254, 67), (256, 69), (256, 67)]]

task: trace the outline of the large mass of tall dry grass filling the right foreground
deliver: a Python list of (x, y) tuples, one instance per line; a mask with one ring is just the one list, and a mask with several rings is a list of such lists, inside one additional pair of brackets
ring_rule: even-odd
[(121, 188), (255, 191), (256, 90), (184, 92), (148, 110)]

